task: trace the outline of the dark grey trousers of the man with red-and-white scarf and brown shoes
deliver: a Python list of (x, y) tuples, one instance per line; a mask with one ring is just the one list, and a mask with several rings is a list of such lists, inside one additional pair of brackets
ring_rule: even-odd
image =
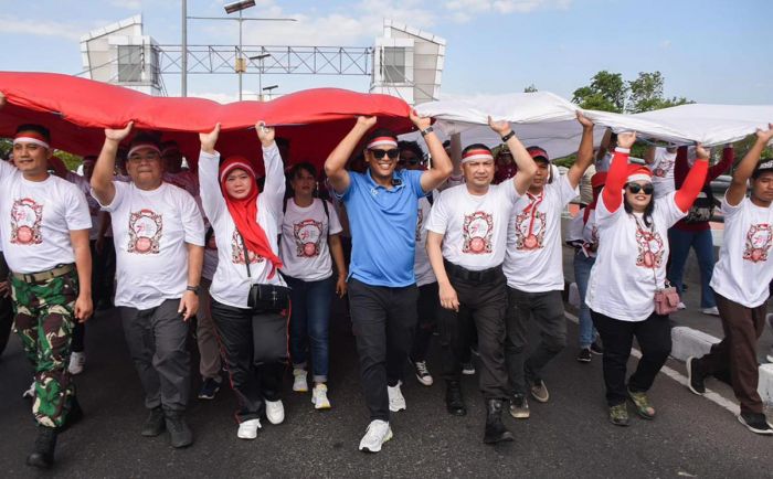
[[(526, 292), (507, 288), (508, 310), (505, 359), (515, 394), (526, 394), (527, 383), (541, 380), (542, 369), (566, 345), (566, 318), (561, 291)], [(529, 319), (540, 330), (540, 343), (526, 358)]]

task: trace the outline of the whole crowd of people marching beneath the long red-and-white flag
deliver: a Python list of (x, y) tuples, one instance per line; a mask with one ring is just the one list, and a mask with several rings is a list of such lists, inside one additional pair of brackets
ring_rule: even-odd
[[(28, 464), (52, 466), (59, 434), (83, 416), (73, 375), (84, 369), (95, 305), (117, 308), (121, 319), (148, 409), (139, 434), (167, 430), (176, 448), (193, 443), (186, 421), (192, 318), (198, 396), (215, 396), (224, 369), (236, 436), (248, 440), (264, 418), (284, 421), (288, 370), (294, 392), (311, 386), (314, 408), (332, 407), (337, 296), (348, 298), (370, 414), (360, 450), (378, 453), (393, 437), (390, 416), (407, 406), (406, 363), (421, 384), (435, 382), (427, 365), (435, 333), (447, 412), (467, 414), (460, 376), (475, 373), (475, 351), (483, 441), (512, 440), (502, 415), (526, 419), (529, 400), (550, 401), (544, 371), (566, 347), (561, 216), (578, 195), (584, 207), (565, 238), (576, 249), (582, 300), (578, 361), (602, 355), (608, 419), (628, 425), (628, 403), (638, 416), (656, 417), (648, 391), (671, 349), (668, 315), (681, 306), (685, 258), (695, 247), (701, 308), (721, 318), (726, 338), (688, 360), (689, 388), (703, 394), (710, 376), (730, 382), (739, 421), (773, 434), (756, 393), (756, 340), (773, 280), (773, 160), (760, 158), (773, 125), (758, 131), (734, 169), (714, 267), (707, 260), (709, 182), (732, 164), (732, 149), (709, 167), (711, 152), (700, 145), (653, 147), (638, 164), (629, 161), (635, 132), (607, 132), (594, 152), (594, 125), (578, 113), (582, 139), (561, 174), (507, 121), (489, 118), (502, 143), (495, 160), (486, 145), (444, 145), (431, 118), (411, 111), (410, 119), (431, 167), (415, 142), (359, 117), (327, 157), (324, 180), (311, 163), (286, 164), (263, 121), (255, 125), (261, 178), (246, 157), (221, 158), (220, 125), (199, 135), (198, 174), (181, 168), (177, 143), (129, 123), (105, 130), (83, 175), (53, 157), (45, 126), (20, 125), (12, 164), (0, 162), (9, 269), (0, 292), (11, 296), (14, 330), (34, 368), (24, 393), (38, 422)], [(531, 344), (530, 328), (539, 331)], [(634, 339), (642, 358), (628, 375)]]

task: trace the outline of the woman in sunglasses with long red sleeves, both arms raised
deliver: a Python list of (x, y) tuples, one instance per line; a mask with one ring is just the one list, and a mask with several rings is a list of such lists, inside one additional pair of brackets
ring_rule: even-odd
[[(671, 351), (668, 316), (655, 311), (654, 300), (655, 292), (666, 287), (667, 233), (698, 196), (709, 158), (698, 145), (698, 159), (681, 188), (654, 200), (652, 172), (628, 164), (635, 141), (635, 132), (617, 136), (618, 146), (595, 210), (599, 249), (585, 299), (604, 343), (606, 402), (610, 421), (617, 426), (628, 425), (627, 400), (640, 417), (655, 418), (647, 391)], [(642, 359), (626, 384), (634, 338)]]

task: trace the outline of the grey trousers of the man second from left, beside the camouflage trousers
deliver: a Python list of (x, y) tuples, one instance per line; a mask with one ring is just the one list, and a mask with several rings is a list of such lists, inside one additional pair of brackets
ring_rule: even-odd
[(145, 407), (184, 411), (191, 385), (188, 323), (177, 312), (180, 299), (156, 308), (118, 308), (126, 343), (145, 388)]

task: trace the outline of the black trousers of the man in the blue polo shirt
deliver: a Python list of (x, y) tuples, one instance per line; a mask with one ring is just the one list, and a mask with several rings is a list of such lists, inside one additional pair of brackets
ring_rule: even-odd
[(416, 328), (416, 285), (403, 288), (349, 280), (349, 309), (371, 421), (389, 421), (386, 385), (402, 381)]

